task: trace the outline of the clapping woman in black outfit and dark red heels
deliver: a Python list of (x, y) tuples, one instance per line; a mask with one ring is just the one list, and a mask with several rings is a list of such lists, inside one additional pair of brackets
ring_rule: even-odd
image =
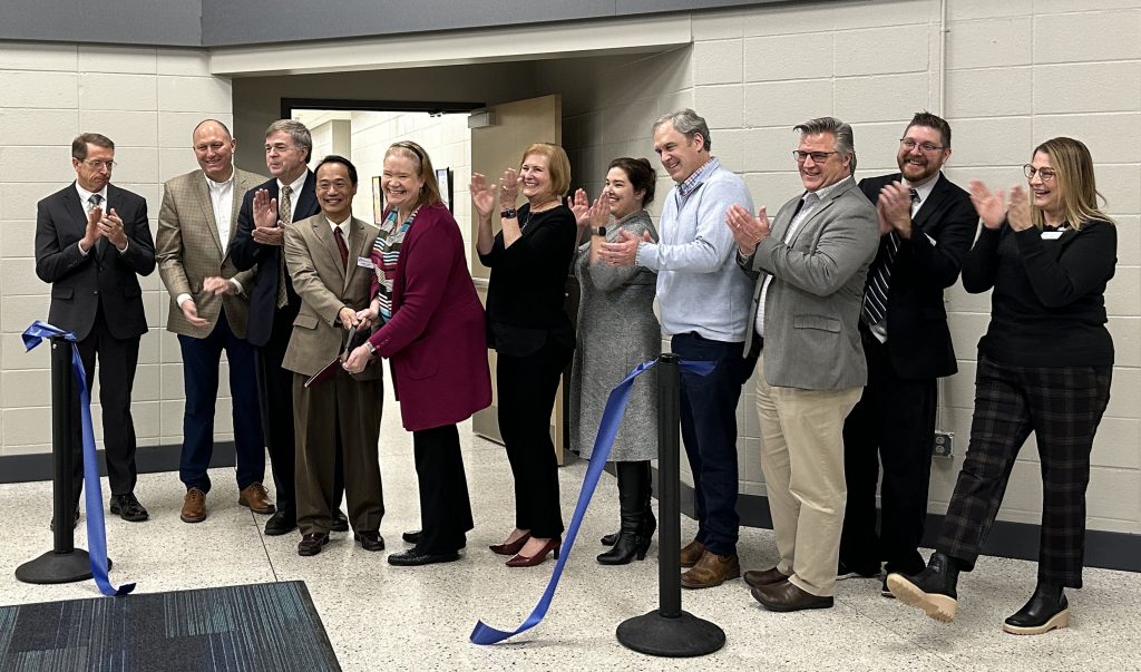
[[(563, 535), (558, 464), (549, 421), (559, 377), (574, 350), (574, 330), (563, 309), (578, 228), (561, 203), (570, 162), (558, 145), (536, 143), (519, 170), (499, 183), (502, 229), (492, 236), (495, 193), (471, 176), (479, 216), (476, 249), (492, 269), (487, 285), (487, 345), (495, 348), (499, 426), (515, 477), (515, 529), (492, 551), (515, 556), (509, 567), (558, 558)], [(527, 203), (515, 209), (518, 192)]]

